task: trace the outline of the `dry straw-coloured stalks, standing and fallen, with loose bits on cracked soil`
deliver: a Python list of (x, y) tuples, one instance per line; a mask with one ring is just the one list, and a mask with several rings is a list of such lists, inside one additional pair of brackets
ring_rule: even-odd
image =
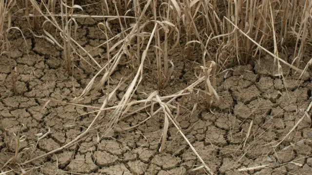
[[(90, 8), (94, 8), (97, 13), (93, 14)], [(12, 26), (11, 19), (17, 11), (23, 12), (24, 28)], [(82, 24), (95, 27), (94, 31), (88, 29), (88, 32), (95, 33), (93, 35), (100, 41), (99, 45), (87, 49), (86, 45), (91, 43), (84, 43), (80, 40), (83, 36), (77, 35), (78, 30), (83, 28)], [(22, 148), (20, 145), (24, 137), (20, 136), (20, 129), (13, 131), (15, 153), (1, 168), (14, 165), (8, 172), (21, 171), (26, 174), (31, 170), (31, 162), (69, 149), (89, 132), (100, 131), (97, 137), (100, 142), (112, 132), (132, 130), (156, 115), (161, 115), (163, 131), (158, 151), (162, 153), (166, 149), (167, 132), (172, 123), (201, 163), (195, 171), (202, 168), (207, 173), (214, 174), (177, 122), (180, 110), (184, 110), (184, 102), (188, 99), (196, 102), (190, 109), (189, 116), (193, 116), (197, 110), (211, 110), (213, 104), (222, 103), (223, 99), (216, 90), (217, 76), (237, 65), (261, 65), (265, 55), (270, 55), (273, 67), (278, 72), (272, 76), (280, 78), (284, 83), (284, 75), (299, 79), (311, 75), (311, 60), (304, 59), (311, 55), (310, 0), (0, 0), (0, 57), (6, 56), (9, 61), (13, 60), (10, 53), (12, 29), (21, 33), (31, 31), (34, 39), (43, 38), (47, 43), (58, 47), (64, 68), (73, 78), (78, 76), (77, 70), (82, 66), (93, 70), (84, 89), (71, 99), (71, 105), (88, 108), (88, 105), (81, 104), (99, 92), (103, 94), (103, 100), (97, 110), (87, 113), (96, 115), (82, 133), (61, 147), (38, 157), (25, 158), (21, 155), (28, 149), (36, 152), (37, 143), (49, 135), (50, 130), (40, 136), (35, 145)], [(27, 48), (26, 39), (23, 35), (22, 37)], [(289, 43), (294, 45), (290, 46)], [(177, 51), (181, 54), (173, 57)], [(185, 88), (172, 92), (169, 88), (178, 64), (193, 65), (196, 80), (191, 79)], [(113, 74), (120, 66), (127, 67), (128, 72), (122, 78), (114, 79)], [(286, 70), (283, 69), (285, 67)], [(16, 81), (19, 70), (14, 64), (10, 69), (12, 87), (15, 95), (18, 95)], [(147, 73), (155, 75), (156, 79), (151, 80), (155, 86), (149, 93), (140, 89)], [(118, 83), (112, 86), (111, 82)], [(239, 90), (233, 91), (238, 94)], [(139, 96), (139, 91), (143, 98), (134, 100), (134, 96)], [(223, 91), (226, 94), (227, 89), (224, 88)], [(121, 92), (118, 101), (112, 103), (116, 94)], [(50, 101), (45, 106), (48, 103)], [(310, 108), (307, 112), (309, 110)], [(119, 123), (128, 116), (143, 112), (147, 117), (136, 125), (126, 127)], [(305, 116), (309, 114), (303, 115), (290, 133)], [(243, 147), (252, 135), (253, 124), (254, 120), (247, 127)], [(277, 142), (275, 147), (284, 139)], [(264, 167), (267, 165), (238, 171)]]

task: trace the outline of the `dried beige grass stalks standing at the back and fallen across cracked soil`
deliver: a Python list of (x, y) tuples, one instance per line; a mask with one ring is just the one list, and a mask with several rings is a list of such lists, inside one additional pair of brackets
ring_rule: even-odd
[[(0, 56), (3, 53), (8, 53), (10, 50), (7, 34), (12, 29), (10, 26), (11, 8), (15, 5), (15, 2), (15, 0), (0, 0)], [(301, 69), (307, 45), (311, 44), (312, 41), (312, 3), (309, 0), (228, 0), (223, 3), (217, 0), (146, 0), (144, 2), (139, 0), (102, 0), (100, 3), (102, 16), (75, 14), (75, 9), (80, 9), (83, 12), (83, 7), (74, 4), (74, 0), (49, 0), (48, 3), (43, 0), (40, 2), (37, 0), (25, 0), (25, 4), (25, 14), (28, 23), (30, 24), (31, 18), (33, 20), (32, 33), (34, 34), (34, 31), (39, 27), (42, 28), (44, 35), (34, 34), (34, 36), (43, 37), (63, 50), (65, 67), (70, 74), (74, 70), (75, 58), (84, 60), (98, 70), (81, 95), (75, 99), (75, 103), (81, 102), (85, 95), (101, 89), (105, 84), (109, 86), (110, 76), (116, 70), (123, 55), (126, 55), (128, 63), (131, 63), (129, 64), (130, 67), (136, 73), (119, 104), (113, 107), (106, 107), (112, 94), (117, 90), (114, 89), (113, 92), (107, 95), (102, 106), (95, 111), (97, 116), (90, 126), (75, 140), (50, 153), (23, 162), (23, 164), (55, 153), (76, 143), (93, 127), (98, 116), (104, 110), (114, 111), (111, 114), (112, 117), (103, 119), (109, 123), (109, 126), (105, 128), (105, 132), (102, 133), (103, 135), (112, 129), (115, 131), (132, 129), (133, 127), (115, 128), (115, 125), (119, 120), (133, 114), (134, 112), (128, 113), (130, 108), (134, 104), (140, 103), (144, 104), (144, 106), (134, 110), (135, 112), (147, 109), (147, 107), (150, 107), (151, 110), (149, 113), (150, 117), (143, 122), (149, 120), (160, 111), (164, 115), (163, 140), (160, 148), (160, 152), (162, 152), (169, 121), (179, 129), (176, 118), (170, 112), (170, 108), (175, 108), (175, 106), (170, 105), (170, 103), (178, 96), (192, 95), (195, 86), (203, 83), (205, 89), (202, 90), (205, 95), (205, 105), (209, 109), (215, 100), (219, 100), (215, 91), (216, 72), (225, 70), (231, 65), (248, 64), (258, 57), (261, 60), (263, 54), (273, 56), (279, 71), (281, 71), (281, 64), (285, 64), (292, 69), (292, 74), (299, 72), (301, 76), (303, 74), (311, 75), (311, 73), (307, 72), (307, 66), (311, 62), (306, 63), (307, 66), (304, 70)], [(28, 9), (29, 4), (32, 5), (33, 9)], [(122, 9), (124, 10), (123, 13)], [(30, 13), (31, 11), (33, 14)], [(39, 23), (39, 18), (43, 18), (44, 22)], [(107, 62), (104, 65), (100, 65), (92, 57), (90, 54), (92, 50), (86, 51), (76, 41), (78, 28), (76, 18), (103, 19), (102, 22), (98, 23), (98, 28), (105, 35), (106, 41), (98, 47), (103, 45), (107, 47), (107, 53), (105, 54)], [(121, 32), (109, 38), (113, 34), (110, 29), (110, 23), (113, 21), (119, 24)], [(47, 26), (49, 26), (48, 30), (46, 29)], [(72, 31), (73, 27), (75, 27), (74, 32)], [(58, 40), (57, 38), (59, 37), (56, 37), (54, 33), (58, 34), (62, 40)], [(292, 40), (295, 40), (296, 44), (293, 58), (291, 63), (289, 63), (289, 60), (280, 58), (279, 55), (280, 53), (288, 54), (286, 43)], [(198, 49), (195, 49), (195, 47), (198, 47)], [(120, 49), (115, 52), (116, 48)], [(137, 50), (134, 51), (132, 48), (137, 48)], [(141, 52), (143, 48), (145, 49)], [(152, 50), (155, 52), (156, 65), (154, 66), (157, 68), (157, 86), (158, 89), (165, 89), (175, 67), (173, 61), (169, 59), (169, 54), (174, 52), (176, 48), (183, 50), (183, 59), (194, 56), (195, 52), (202, 53), (202, 60), (199, 63), (202, 73), (198, 76), (198, 80), (188, 88), (181, 89), (173, 96), (170, 96), (172, 99), (167, 102), (163, 102), (163, 100), (167, 100), (169, 96), (160, 97), (157, 92), (152, 93), (146, 100), (130, 102), (143, 78), (143, 67), (146, 64), (147, 53)], [(273, 51), (271, 48), (273, 48)], [(83, 53), (79, 53), (78, 49), (82, 50)], [(113, 57), (110, 56), (111, 53), (114, 53)], [(85, 56), (88, 56), (92, 62), (86, 61)], [(172, 66), (171, 70), (170, 65)], [(283, 72), (280, 74), (283, 75)], [(96, 78), (100, 75), (102, 75), (100, 81), (96, 82)], [(284, 77), (282, 78), (284, 80)], [(13, 82), (15, 81), (13, 80)], [(199, 96), (199, 93), (197, 95)], [(160, 105), (156, 111), (154, 111), (155, 104)], [(195, 105), (196, 107), (197, 105)], [(179, 105), (176, 108), (179, 110)], [(176, 117), (178, 117), (178, 114)], [(250, 124), (246, 140), (249, 137), (251, 128), (252, 123)], [(202, 162), (201, 168), (206, 168), (210, 174), (213, 174), (184, 134), (180, 130), (179, 132)], [(251, 169), (258, 168), (263, 167), (251, 167)]]

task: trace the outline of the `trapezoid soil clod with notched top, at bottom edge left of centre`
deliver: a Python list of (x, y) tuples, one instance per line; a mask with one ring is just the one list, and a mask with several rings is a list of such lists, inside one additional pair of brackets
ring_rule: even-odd
[(98, 169), (98, 166), (94, 164), (92, 160), (92, 153), (75, 156), (75, 159), (71, 160), (69, 165), (65, 168), (66, 171), (75, 173), (91, 173)]

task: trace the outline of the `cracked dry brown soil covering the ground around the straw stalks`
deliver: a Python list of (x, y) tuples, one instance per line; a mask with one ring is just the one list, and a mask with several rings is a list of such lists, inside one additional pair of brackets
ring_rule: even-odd
[[(15, 19), (17, 25), (26, 25)], [(24, 21), (25, 22), (25, 21)], [(94, 19), (78, 20), (78, 42), (90, 50), (105, 39)], [(43, 155), (74, 140), (93, 121), (97, 110), (118, 81), (131, 69), (121, 64), (111, 76), (110, 87), (96, 94), (88, 94), (83, 105), (72, 105), (94, 75), (85, 62), (76, 61), (74, 75), (68, 75), (61, 59), (61, 49), (42, 38), (27, 33), (24, 40), (14, 34), (11, 57), (20, 72), (17, 81), (19, 95), (14, 95), (11, 65), (14, 61), (0, 57), (0, 167), (2, 171), (16, 168), (16, 163)], [(92, 51), (98, 62), (104, 47)], [(27, 52), (29, 55), (27, 55)], [(161, 95), (171, 95), (196, 81), (193, 61), (181, 59), (182, 53), (170, 55), (175, 70), (168, 87)], [(154, 54), (148, 54), (144, 79), (134, 95), (135, 100), (146, 99), (156, 90), (157, 80)], [(12, 60), (13, 60), (12, 59)], [(90, 60), (89, 60), (90, 61)], [(123, 58), (126, 63), (126, 58)], [(154, 68), (153, 68), (154, 67)], [(288, 72), (283, 67), (283, 72)], [(309, 77), (297, 81), (298, 76), (280, 79), (273, 69), (273, 59), (263, 58), (261, 64), (234, 67), (218, 74), (216, 91), (220, 102), (207, 111), (200, 99), (186, 98), (176, 119), (188, 140), (205, 163), (217, 175), (310, 175), (312, 172), (312, 122), (304, 117), (292, 133), (274, 147), (304, 115), (311, 102), (312, 83)], [(99, 81), (98, 78), (96, 81)], [(108, 106), (117, 105), (127, 90), (122, 85)], [(128, 84), (127, 84), (128, 83)], [(88, 98), (89, 97), (89, 98)], [(48, 102), (47, 100), (52, 100)], [(53, 101), (58, 100), (58, 101)], [(178, 99), (177, 101), (179, 101)], [(48, 103), (47, 103), (48, 102)], [(196, 108), (194, 105), (196, 104)], [(92, 107), (91, 107), (92, 106)], [(143, 105), (138, 105), (141, 107)], [(193, 112), (192, 112), (193, 111)], [(176, 111), (173, 111), (176, 115)], [(119, 127), (134, 126), (147, 118), (145, 110), (122, 118)], [(163, 131), (163, 116), (157, 114), (135, 129), (102, 135), (104, 122), (100, 117), (94, 127), (77, 144), (20, 164), (31, 174), (107, 174), (107, 175), (202, 175), (204, 169), (190, 171), (201, 165), (187, 142), (170, 124), (166, 147), (159, 153)], [(38, 141), (50, 129), (50, 134)], [(21, 138), (18, 160), (12, 160), (16, 138)], [(248, 136), (248, 137), (247, 137)], [(266, 165), (259, 169), (253, 169)], [(244, 172), (241, 168), (249, 168)], [(18, 169), (17, 169), (18, 170)], [(10, 172), (10, 174), (20, 172)]]

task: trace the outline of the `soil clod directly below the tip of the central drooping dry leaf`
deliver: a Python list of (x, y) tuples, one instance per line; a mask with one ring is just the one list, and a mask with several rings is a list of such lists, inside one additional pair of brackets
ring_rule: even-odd
[(181, 158), (169, 155), (167, 153), (158, 154), (153, 158), (152, 163), (162, 167), (164, 170), (168, 170), (175, 168), (176, 165), (181, 163)]

